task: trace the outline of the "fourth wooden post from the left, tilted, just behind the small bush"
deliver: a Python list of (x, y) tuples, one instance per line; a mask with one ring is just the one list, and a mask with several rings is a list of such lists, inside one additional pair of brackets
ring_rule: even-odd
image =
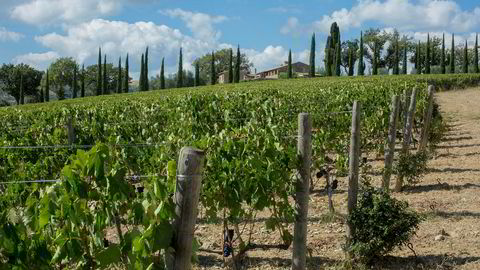
[(385, 192), (389, 191), (390, 177), (392, 175), (393, 156), (395, 154), (395, 140), (397, 138), (397, 120), (400, 98), (395, 95), (392, 97), (392, 111), (390, 112), (390, 122), (388, 127), (387, 149), (385, 151), (385, 171), (383, 173), (382, 187)]

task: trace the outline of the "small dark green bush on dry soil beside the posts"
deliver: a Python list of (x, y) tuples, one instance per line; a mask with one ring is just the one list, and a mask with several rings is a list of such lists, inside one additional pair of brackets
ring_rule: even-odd
[(356, 229), (347, 251), (359, 262), (371, 264), (375, 258), (407, 244), (421, 217), (408, 209), (407, 202), (366, 186), (348, 220)]

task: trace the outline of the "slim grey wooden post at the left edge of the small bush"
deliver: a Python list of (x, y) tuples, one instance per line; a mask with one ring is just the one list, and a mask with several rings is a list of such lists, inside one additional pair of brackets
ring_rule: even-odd
[[(357, 207), (358, 195), (358, 162), (360, 158), (360, 113), (361, 104), (358, 101), (353, 103), (352, 112), (352, 134), (350, 137), (350, 154), (348, 160), (348, 215), (352, 214)], [(347, 248), (350, 247), (355, 228), (347, 222)]]

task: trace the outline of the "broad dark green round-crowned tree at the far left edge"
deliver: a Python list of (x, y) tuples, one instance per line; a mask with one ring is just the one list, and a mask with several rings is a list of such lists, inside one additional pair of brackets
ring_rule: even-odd
[(20, 104), (20, 77), (23, 75), (24, 95), (37, 96), (43, 73), (25, 64), (3, 64), (0, 67), (0, 89)]

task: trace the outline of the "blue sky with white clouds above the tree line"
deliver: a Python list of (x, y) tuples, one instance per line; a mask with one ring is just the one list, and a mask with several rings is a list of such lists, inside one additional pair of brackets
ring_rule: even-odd
[[(473, 42), (480, 29), (480, 3), (474, 0), (1, 0), (0, 63), (28, 63), (45, 69), (58, 57), (94, 64), (98, 47), (116, 63), (150, 47), (150, 76), (166, 58), (174, 72), (178, 48), (186, 67), (212, 50), (236, 47), (257, 70), (281, 64), (291, 48), (294, 60), (307, 61), (309, 39), (317, 35), (317, 62), (326, 33), (336, 21), (342, 40), (361, 30), (399, 29), (415, 39), (427, 33), (456, 42)], [(450, 44), (447, 40), (447, 44)]]

